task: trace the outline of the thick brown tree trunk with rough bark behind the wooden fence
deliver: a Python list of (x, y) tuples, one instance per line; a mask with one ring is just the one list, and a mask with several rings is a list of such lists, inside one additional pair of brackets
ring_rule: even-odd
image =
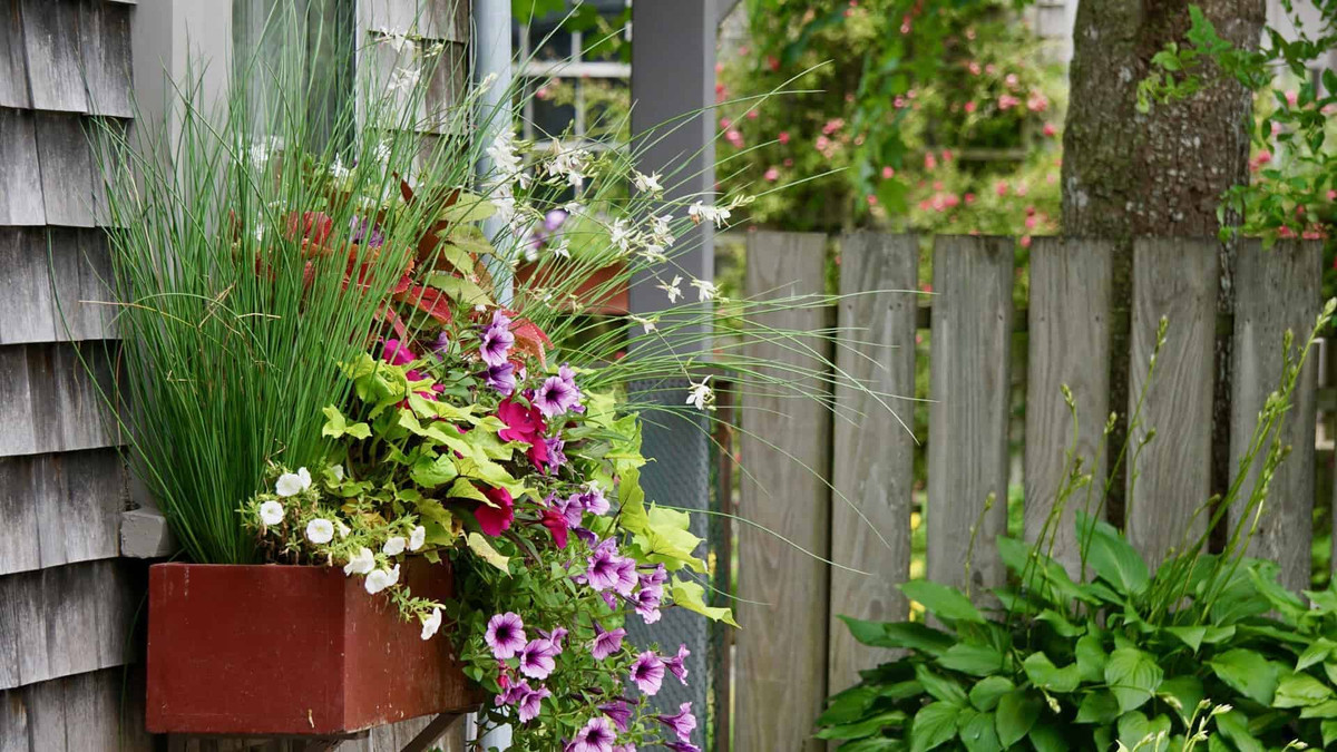
[[(1222, 37), (1257, 47), (1266, 20), (1263, 0), (1194, 0)], [(1110, 462), (1127, 435), (1128, 312), (1132, 301), (1132, 238), (1211, 237), (1219, 227), (1221, 194), (1249, 179), (1251, 95), (1201, 71), (1203, 87), (1170, 104), (1136, 111), (1138, 82), (1166, 43), (1183, 44), (1190, 0), (1082, 0), (1074, 28), (1071, 96), (1063, 134), (1063, 231), (1119, 241), (1111, 310), (1111, 408), (1120, 412), (1110, 438)], [(1233, 222), (1233, 218), (1227, 218)], [(1234, 253), (1222, 248), (1218, 310), (1233, 312)], [(1218, 339), (1213, 416), (1213, 491), (1229, 482), (1229, 340)], [(1090, 416), (1087, 420), (1100, 420)], [(1219, 451), (1218, 451), (1219, 450)], [(1219, 455), (1219, 456), (1218, 456)], [(1122, 523), (1120, 468), (1110, 499)]]

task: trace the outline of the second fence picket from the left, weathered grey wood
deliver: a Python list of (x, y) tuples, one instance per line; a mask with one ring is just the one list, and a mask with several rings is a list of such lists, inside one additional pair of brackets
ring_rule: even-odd
[[(890, 656), (860, 645), (838, 616), (900, 621), (908, 603), (896, 587), (909, 577), (915, 464), (915, 310), (919, 238), (858, 233), (841, 244), (840, 340), (836, 367), (832, 561), (873, 573), (832, 569), (832, 692)], [(877, 292), (874, 292), (877, 290)], [(860, 294), (864, 293), (864, 294)], [(873, 293), (873, 294), (868, 294)], [(854, 385), (862, 384), (873, 393)], [(892, 415), (894, 411), (896, 415)]]

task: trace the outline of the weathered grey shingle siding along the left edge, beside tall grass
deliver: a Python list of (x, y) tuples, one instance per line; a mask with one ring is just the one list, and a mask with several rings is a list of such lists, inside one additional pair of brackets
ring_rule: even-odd
[[(150, 749), (122, 666), (143, 566), (79, 364), (115, 336), (86, 130), (131, 115), (134, 5), (0, 0), (0, 751)], [(64, 321), (62, 321), (62, 313)], [(120, 720), (124, 719), (124, 735)]]

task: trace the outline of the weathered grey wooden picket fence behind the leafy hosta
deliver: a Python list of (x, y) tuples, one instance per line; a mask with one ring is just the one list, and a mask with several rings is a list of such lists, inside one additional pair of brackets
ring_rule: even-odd
[[(826, 246), (822, 234), (755, 231), (747, 238), (749, 294), (820, 294)], [(854, 234), (840, 240), (838, 310), (804, 308), (767, 314), (767, 324), (797, 331), (838, 328), (836, 367), (872, 392), (915, 396), (916, 333), (931, 331), (927, 577), (976, 590), (1000, 585), (1005, 571), (992, 545), (1007, 529), (1009, 399), (1015, 363), (1025, 365), (1024, 519), (1034, 535), (1050, 514), (1066, 472), (1072, 420), (1060, 387), (1072, 389), (1078, 451), (1096, 460), (1106, 417), (1130, 405), (1110, 404), (1110, 326), (1114, 246), (1103, 241), (1036, 238), (1029, 256), (1029, 300), (1013, 305), (1015, 241), (939, 237), (932, 244), (932, 296), (919, 285), (921, 242), (913, 236)], [(1218, 244), (1144, 240), (1134, 249), (1131, 347), (1127, 393), (1142, 391), (1162, 316), (1169, 341), (1142, 408), (1155, 439), (1128, 476), (1126, 530), (1159, 558), (1178, 542), (1207, 499), (1218, 339), (1233, 344), (1231, 459), (1241, 454), (1258, 409), (1281, 376), (1286, 329), (1308, 335), (1320, 310), (1318, 244), (1238, 249), (1234, 310), (1218, 312)], [(924, 308), (931, 306), (928, 320)], [(1025, 357), (1012, 353), (1025, 331)], [(1021, 341), (1020, 337), (1017, 337)], [(822, 344), (814, 339), (813, 347)], [(830, 355), (829, 347), (824, 352)], [(816, 368), (818, 361), (775, 344), (751, 355)], [(1016, 357), (1013, 357), (1016, 355)], [(1301, 380), (1286, 424), (1290, 458), (1271, 483), (1270, 511), (1253, 542), (1255, 555), (1281, 563), (1292, 587), (1306, 586), (1314, 503), (1316, 371)], [(814, 376), (800, 388), (830, 391)], [(909, 577), (910, 432), (868, 392), (837, 385), (834, 413), (813, 400), (742, 389), (743, 432), (738, 514), (832, 561), (873, 573), (830, 567), (751, 526), (738, 530), (738, 618), (731, 704), (733, 748), (739, 752), (820, 749), (813, 720), (824, 698), (857, 681), (885, 652), (856, 644), (837, 618), (902, 620), (908, 603), (897, 583)], [(915, 403), (886, 400), (909, 424)], [(1234, 467), (1234, 462), (1231, 466)], [(829, 484), (828, 484), (829, 483)], [(1251, 486), (1250, 486), (1251, 487)], [(985, 499), (997, 502), (981, 511)], [(1071, 504), (1076, 506), (1076, 503)], [(1071, 518), (1071, 511), (1067, 512)], [(979, 542), (965, 573), (971, 529)], [(1071, 519), (1063, 522), (1059, 557), (1075, 557)], [(880, 654), (882, 653), (882, 654)]]

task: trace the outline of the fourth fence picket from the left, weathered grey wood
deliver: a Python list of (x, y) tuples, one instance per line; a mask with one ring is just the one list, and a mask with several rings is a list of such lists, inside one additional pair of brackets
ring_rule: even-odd
[[(1072, 574), (1080, 554), (1074, 512), (1099, 504), (1110, 415), (1110, 280), (1114, 245), (1036, 238), (1031, 246), (1029, 372), (1025, 395), (1025, 539), (1044, 534)], [(1062, 388), (1072, 391), (1076, 436)], [(1071, 458), (1070, 458), (1071, 452)], [(1092, 474), (1091, 494), (1068, 498), (1046, 530), (1072, 458)], [(1095, 508), (1087, 510), (1094, 514)]]

